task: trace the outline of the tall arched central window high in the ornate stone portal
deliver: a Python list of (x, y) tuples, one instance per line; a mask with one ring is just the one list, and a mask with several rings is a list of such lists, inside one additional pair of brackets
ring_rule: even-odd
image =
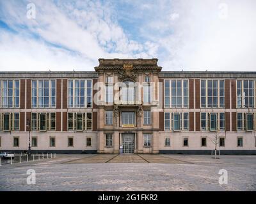
[(136, 89), (135, 89), (134, 82), (125, 81), (122, 85), (122, 103), (123, 104), (134, 104), (135, 96), (136, 96)]

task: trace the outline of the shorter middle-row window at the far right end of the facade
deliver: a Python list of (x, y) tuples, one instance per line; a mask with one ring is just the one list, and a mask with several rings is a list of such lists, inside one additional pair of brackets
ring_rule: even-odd
[(237, 113), (237, 130), (253, 131), (254, 113)]

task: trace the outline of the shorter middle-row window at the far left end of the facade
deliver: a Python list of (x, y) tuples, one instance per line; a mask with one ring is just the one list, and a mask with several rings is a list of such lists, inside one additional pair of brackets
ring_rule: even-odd
[(0, 131), (19, 131), (19, 113), (0, 113)]

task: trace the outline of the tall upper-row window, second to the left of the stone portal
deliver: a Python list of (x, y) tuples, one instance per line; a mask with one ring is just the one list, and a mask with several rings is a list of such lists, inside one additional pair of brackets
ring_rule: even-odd
[(56, 80), (32, 80), (32, 108), (56, 107)]

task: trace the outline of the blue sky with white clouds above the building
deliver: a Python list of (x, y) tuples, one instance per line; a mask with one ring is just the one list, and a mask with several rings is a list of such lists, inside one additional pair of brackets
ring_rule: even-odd
[(99, 58), (256, 71), (256, 1), (0, 0), (0, 71), (94, 71)]

